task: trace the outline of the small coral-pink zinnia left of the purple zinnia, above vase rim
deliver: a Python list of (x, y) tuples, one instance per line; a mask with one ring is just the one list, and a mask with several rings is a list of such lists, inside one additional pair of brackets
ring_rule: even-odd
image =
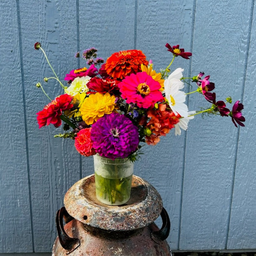
[(75, 137), (75, 148), (82, 156), (95, 155), (93, 142), (91, 141), (91, 129), (85, 128), (80, 130)]

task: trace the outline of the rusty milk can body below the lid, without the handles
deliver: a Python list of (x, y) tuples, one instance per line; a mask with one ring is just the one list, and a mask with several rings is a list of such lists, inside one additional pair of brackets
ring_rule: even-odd
[[(153, 236), (159, 228), (148, 226), (130, 231), (110, 231), (85, 225), (73, 219), (64, 226), (70, 237), (79, 238), (80, 246), (69, 256), (170, 256), (167, 241)], [(66, 256), (59, 239), (55, 240), (52, 256)]]

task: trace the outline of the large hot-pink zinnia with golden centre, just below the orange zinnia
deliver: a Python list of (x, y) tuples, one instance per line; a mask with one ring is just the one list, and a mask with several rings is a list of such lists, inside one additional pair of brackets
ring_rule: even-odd
[(157, 101), (163, 100), (163, 95), (159, 91), (160, 83), (146, 72), (125, 77), (118, 86), (122, 93), (121, 97), (126, 99), (128, 104), (135, 103), (138, 107), (149, 108)]

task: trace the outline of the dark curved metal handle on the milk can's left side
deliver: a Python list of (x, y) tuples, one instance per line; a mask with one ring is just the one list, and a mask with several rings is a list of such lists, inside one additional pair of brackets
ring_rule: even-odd
[(67, 235), (63, 226), (63, 218), (65, 223), (68, 223), (73, 219), (73, 217), (68, 214), (65, 207), (58, 210), (56, 214), (56, 227), (60, 244), (62, 248), (66, 250), (66, 254), (69, 254), (80, 246), (80, 241), (78, 238), (69, 237)]

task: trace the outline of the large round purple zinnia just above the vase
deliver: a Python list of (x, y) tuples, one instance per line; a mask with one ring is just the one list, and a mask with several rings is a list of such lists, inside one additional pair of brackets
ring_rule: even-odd
[(91, 140), (100, 156), (125, 158), (139, 145), (138, 127), (128, 117), (112, 112), (92, 125)]

